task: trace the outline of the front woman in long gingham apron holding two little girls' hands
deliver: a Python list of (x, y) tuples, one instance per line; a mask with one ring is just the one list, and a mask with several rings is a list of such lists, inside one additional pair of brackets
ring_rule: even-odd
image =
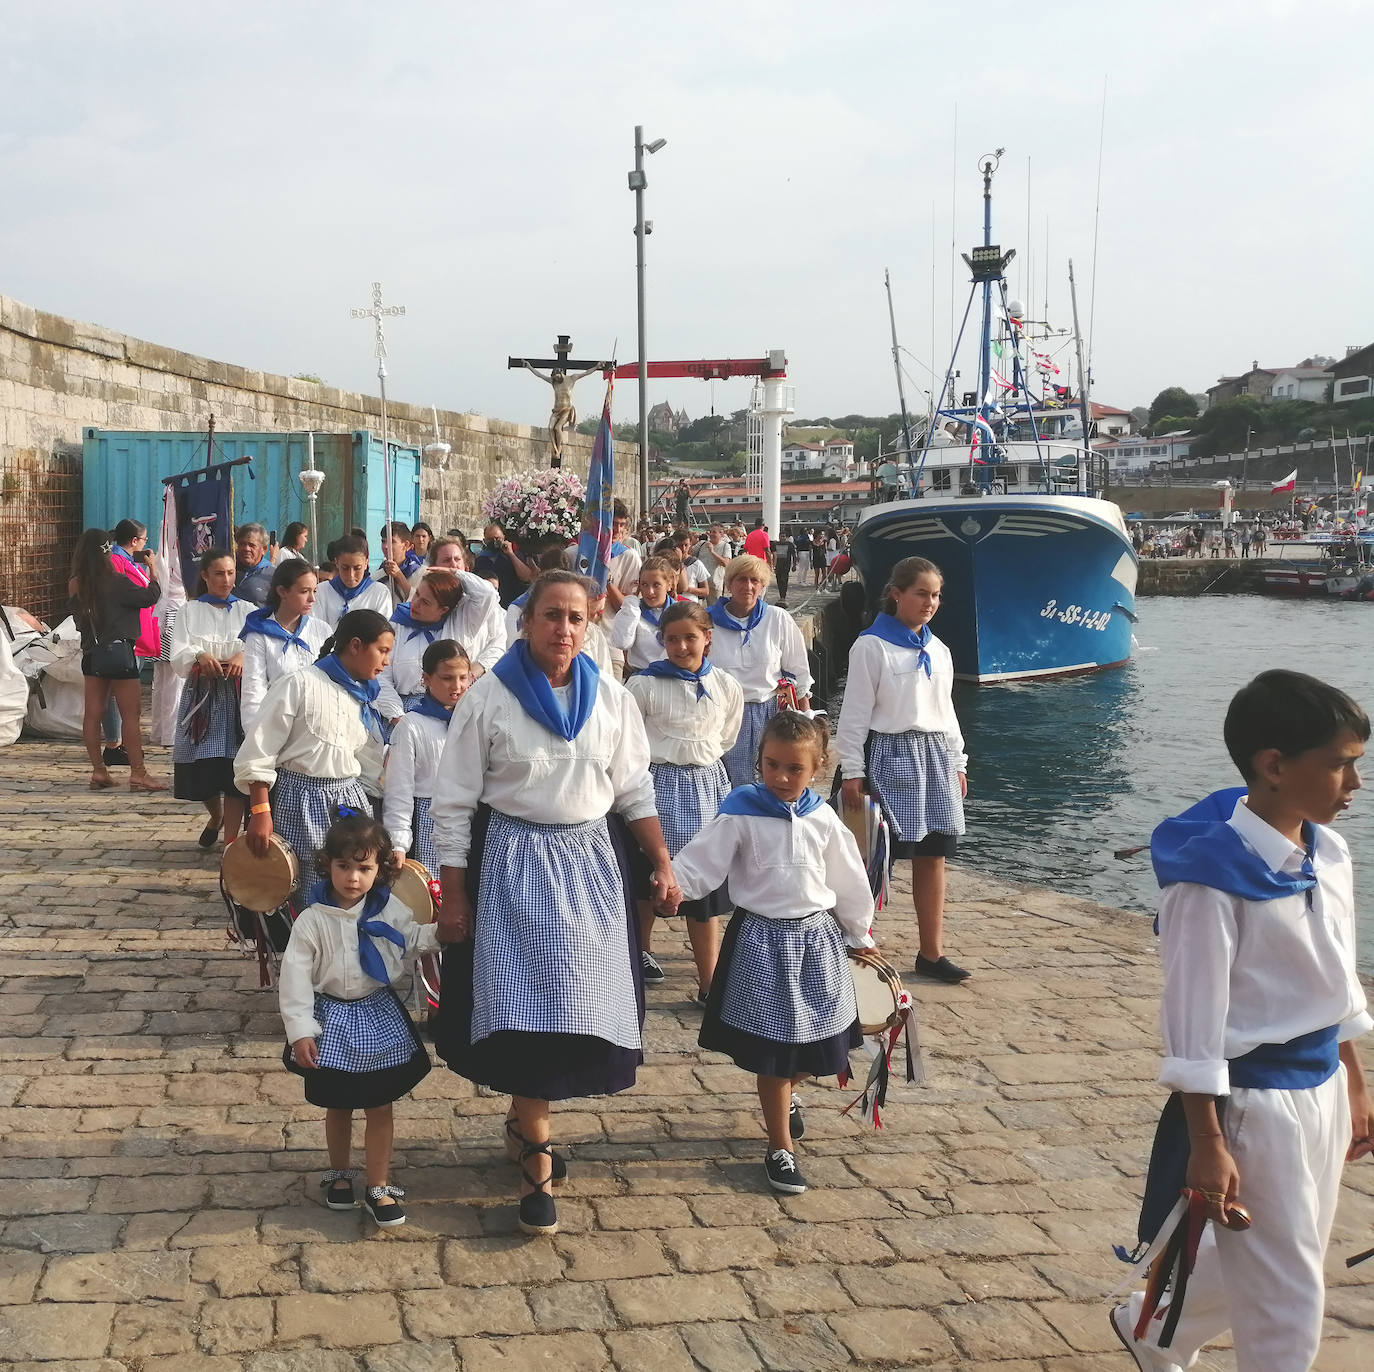
[(434, 1041), (449, 1067), (508, 1092), (519, 1226), (554, 1233), (551, 1100), (610, 1095), (643, 1062), (639, 938), (614, 810), (679, 897), (633, 700), (583, 654), (587, 582), (547, 571), (525, 637), (459, 705), (434, 783), (444, 956)]

